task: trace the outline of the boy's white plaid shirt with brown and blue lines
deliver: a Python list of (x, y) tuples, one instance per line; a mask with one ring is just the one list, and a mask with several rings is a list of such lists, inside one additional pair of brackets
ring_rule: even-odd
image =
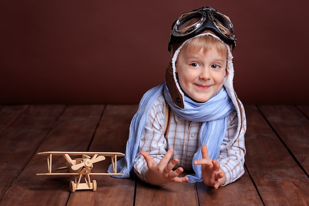
[[(198, 133), (201, 126), (200, 122), (191, 122), (182, 119), (173, 111), (170, 116), (170, 125), (167, 137), (164, 136), (166, 102), (163, 95), (160, 95), (151, 107), (148, 119), (146, 121), (145, 131), (140, 141), (140, 150), (146, 151), (156, 161), (160, 160), (166, 154), (168, 148), (173, 148), (174, 153), (171, 159), (178, 158), (176, 167), (183, 167), (185, 170), (192, 169), (193, 155), (198, 148)], [(227, 118), (228, 129), (226, 136), (221, 144), (220, 156), (217, 161), (225, 173), (227, 185), (238, 179), (244, 173), (244, 133), (245, 122), (240, 135), (232, 145), (227, 149), (226, 145), (233, 138), (237, 128), (237, 114), (234, 110)], [(167, 139), (167, 141), (166, 141)], [(147, 163), (141, 154), (135, 159), (135, 173), (139, 178), (147, 182), (146, 172)]]

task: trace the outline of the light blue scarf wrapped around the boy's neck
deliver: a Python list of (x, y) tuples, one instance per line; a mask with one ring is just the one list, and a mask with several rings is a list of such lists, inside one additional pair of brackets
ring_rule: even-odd
[[(202, 159), (201, 147), (207, 145), (209, 157), (217, 159), (220, 154), (220, 145), (225, 137), (227, 130), (226, 117), (234, 110), (234, 105), (230, 99), (225, 87), (207, 102), (197, 103), (185, 96), (185, 109), (177, 107), (169, 94), (166, 83), (161, 83), (148, 90), (141, 99), (137, 113), (134, 115), (130, 124), (129, 139), (126, 145), (125, 157), (117, 162), (117, 173), (123, 173), (118, 178), (130, 177), (130, 171), (133, 168), (134, 161), (139, 151), (140, 139), (145, 130), (145, 124), (148, 118), (150, 108), (159, 95), (164, 92), (165, 99), (171, 109), (181, 118), (193, 122), (202, 122), (199, 130), (199, 144), (194, 160)], [(194, 165), (195, 174), (187, 175), (188, 182), (201, 182), (201, 165)], [(113, 173), (113, 167), (110, 165), (108, 172)]]

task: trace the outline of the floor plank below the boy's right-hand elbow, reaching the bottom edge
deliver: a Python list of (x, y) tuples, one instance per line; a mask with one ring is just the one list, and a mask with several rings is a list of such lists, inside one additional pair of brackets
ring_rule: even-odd
[(235, 182), (217, 190), (202, 182), (196, 183), (201, 206), (263, 206), (248, 171)]

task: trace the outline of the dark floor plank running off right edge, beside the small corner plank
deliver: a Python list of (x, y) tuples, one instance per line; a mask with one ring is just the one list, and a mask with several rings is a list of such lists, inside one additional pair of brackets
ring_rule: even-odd
[(309, 174), (309, 120), (292, 105), (260, 105), (284, 144)]

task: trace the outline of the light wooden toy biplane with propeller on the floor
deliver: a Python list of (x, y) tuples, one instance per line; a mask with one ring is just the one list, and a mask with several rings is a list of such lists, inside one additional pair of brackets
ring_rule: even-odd
[[(123, 157), (124, 154), (119, 152), (39, 152), (38, 155), (47, 156), (48, 173), (37, 173), (37, 175), (76, 175), (75, 181), (70, 182), (71, 192), (76, 190), (97, 190), (96, 180), (90, 181), (90, 175), (123, 175), (117, 173), (117, 157)], [(52, 172), (52, 156), (63, 156), (67, 161), (67, 166), (56, 168), (67, 169), (67, 172)], [(72, 159), (71, 156), (81, 156), (81, 158)], [(91, 157), (92, 156), (92, 157)], [(91, 173), (94, 163), (105, 160), (105, 157), (111, 157), (113, 173)], [(80, 183), (81, 177), (85, 182)], [(78, 180), (77, 180), (78, 179)]]

